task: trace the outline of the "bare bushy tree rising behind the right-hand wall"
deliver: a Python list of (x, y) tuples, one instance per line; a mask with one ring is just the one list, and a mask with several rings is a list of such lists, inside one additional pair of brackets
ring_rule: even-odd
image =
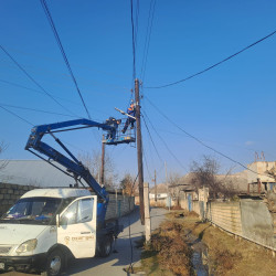
[(233, 182), (229, 178), (231, 170), (219, 177), (220, 163), (210, 156), (203, 156), (202, 162), (193, 161), (191, 164), (192, 183), (197, 188), (208, 187), (210, 197), (230, 198), (235, 194)]

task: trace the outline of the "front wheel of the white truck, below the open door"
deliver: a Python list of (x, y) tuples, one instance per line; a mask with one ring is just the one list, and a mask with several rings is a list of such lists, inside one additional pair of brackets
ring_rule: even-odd
[(62, 273), (64, 266), (64, 255), (61, 251), (54, 250), (47, 256), (46, 276), (57, 276)]

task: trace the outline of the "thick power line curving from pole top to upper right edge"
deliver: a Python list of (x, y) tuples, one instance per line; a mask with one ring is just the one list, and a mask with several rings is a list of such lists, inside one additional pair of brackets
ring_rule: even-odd
[(266, 39), (273, 36), (275, 33), (276, 33), (276, 31), (274, 31), (274, 32), (267, 34), (267, 35), (264, 36), (263, 39), (261, 39), (261, 40), (258, 40), (258, 41), (256, 41), (256, 42), (250, 44), (248, 46), (246, 46), (246, 47), (240, 50), (238, 52), (236, 52), (236, 53), (230, 55), (229, 57), (226, 57), (226, 59), (224, 59), (224, 60), (222, 60), (222, 61), (220, 61), (220, 62), (217, 62), (217, 63), (211, 65), (210, 67), (206, 67), (206, 68), (204, 68), (204, 70), (202, 70), (202, 71), (200, 71), (200, 72), (198, 72), (198, 73), (195, 73), (195, 74), (193, 74), (193, 75), (190, 75), (190, 76), (188, 76), (188, 77), (185, 77), (185, 78), (182, 78), (182, 79), (177, 81), (177, 82), (173, 82), (173, 83), (160, 85), (160, 86), (149, 86), (149, 87), (145, 87), (145, 88), (148, 88), (148, 89), (158, 89), (158, 88), (169, 87), (169, 86), (172, 86), (172, 85), (176, 85), (176, 84), (179, 84), (179, 83), (183, 83), (183, 82), (185, 82), (185, 81), (188, 81), (188, 79), (191, 79), (191, 78), (193, 78), (193, 77), (195, 77), (195, 76), (198, 76), (198, 75), (201, 75), (201, 74), (203, 74), (203, 73), (205, 73), (205, 72), (208, 72), (208, 71), (210, 71), (210, 70), (212, 70), (212, 68), (214, 68), (214, 67), (216, 67), (216, 66), (219, 66), (219, 65), (221, 65), (222, 63), (224, 63), (224, 62), (226, 62), (226, 61), (233, 59), (234, 56), (236, 56), (236, 55), (243, 53), (244, 51), (246, 51), (246, 50), (248, 50), (248, 49), (255, 46), (256, 44), (263, 42), (264, 40), (266, 40)]

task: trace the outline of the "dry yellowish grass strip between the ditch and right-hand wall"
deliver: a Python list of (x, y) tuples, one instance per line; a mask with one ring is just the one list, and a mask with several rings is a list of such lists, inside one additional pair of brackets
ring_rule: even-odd
[(209, 247), (210, 268), (214, 275), (276, 275), (276, 258), (272, 252), (251, 242), (201, 223), (195, 216), (178, 219), (184, 229), (191, 230)]

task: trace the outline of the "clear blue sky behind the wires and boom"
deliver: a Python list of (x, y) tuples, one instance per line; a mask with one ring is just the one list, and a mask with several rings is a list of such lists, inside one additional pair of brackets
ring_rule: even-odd
[[(134, 0), (137, 3), (136, 0)], [(140, 78), (150, 1), (140, 0), (137, 33), (137, 76)], [(98, 121), (118, 116), (114, 107), (126, 109), (132, 88), (132, 45), (130, 1), (47, 1), (65, 52), (88, 106)], [(144, 86), (162, 85), (184, 78), (237, 52), (276, 29), (275, 1), (164, 1), (157, 0)], [(1, 44), (59, 102), (85, 117), (77, 92), (46, 21), (40, 1), (1, 1)], [(144, 95), (188, 132), (216, 150), (247, 164), (254, 151), (276, 160), (276, 35), (231, 61), (185, 83), (142, 89)], [(0, 51), (1, 105), (35, 108), (66, 115), (67, 112), (38, 89)], [(8, 84), (19, 85), (14, 86)], [(147, 98), (141, 102), (152, 125), (164, 139), (150, 132), (161, 160), (157, 157), (146, 127), (144, 147), (149, 168), (147, 181), (158, 170), (158, 181), (168, 171), (185, 173), (192, 160), (202, 155), (217, 157), (222, 172), (235, 164), (181, 134), (160, 116)], [(71, 119), (7, 107), (33, 125)], [(0, 109), (0, 140), (8, 144), (1, 158), (33, 159), (24, 150), (31, 126)], [(61, 135), (82, 150), (99, 149), (98, 130)], [(136, 148), (109, 147), (120, 176), (137, 171)], [(243, 170), (235, 167), (235, 170)]]

